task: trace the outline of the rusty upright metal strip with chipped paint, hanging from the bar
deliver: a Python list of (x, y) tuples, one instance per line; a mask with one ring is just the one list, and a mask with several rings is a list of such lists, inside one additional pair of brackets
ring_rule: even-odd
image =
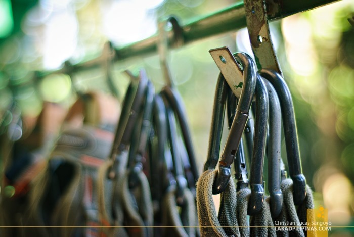
[(272, 69), (283, 75), (272, 43), (265, 1), (244, 0), (244, 8), (249, 39), (258, 69)]

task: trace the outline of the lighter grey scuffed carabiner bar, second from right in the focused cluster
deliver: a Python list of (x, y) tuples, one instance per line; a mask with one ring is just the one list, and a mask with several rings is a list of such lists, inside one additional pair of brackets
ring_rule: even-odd
[(272, 217), (279, 216), (283, 207), (281, 181), (281, 132), (282, 115), (277, 92), (268, 80), (263, 80), (268, 89), (269, 125), (268, 125), (268, 192), (271, 196), (270, 208)]

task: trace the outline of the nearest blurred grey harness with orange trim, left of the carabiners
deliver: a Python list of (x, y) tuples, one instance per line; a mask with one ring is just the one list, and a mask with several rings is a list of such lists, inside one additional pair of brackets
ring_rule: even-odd
[[(87, 94), (83, 100), (95, 100), (97, 105), (100, 105), (100, 102), (108, 99), (106, 97), (105, 100), (96, 100), (98, 97), (96, 94)], [(109, 235), (108, 228), (101, 228), (111, 225), (112, 222), (100, 215), (102, 207), (99, 205), (98, 197), (102, 195), (98, 193), (100, 190), (98, 173), (99, 166), (109, 154), (113, 133), (97, 127), (106, 128), (114, 125), (109, 124), (108, 119), (100, 121), (102, 123), (98, 123), (97, 127), (89, 125), (77, 127), (78, 120), (73, 118), (82, 118), (82, 114), (86, 113), (79, 104), (80, 100), (69, 111), (61, 135), (49, 155), (48, 163), (30, 183), (28, 203), (31, 205), (28, 205), (21, 222), (24, 226), (91, 227), (80, 229), (38, 227), (27, 229), (26, 234), (31, 232), (39, 236), (48, 236), (48, 234), (81, 233), (90, 236), (99, 232)], [(114, 111), (117, 111), (118, 104), (114, 102), (110, 105), (114, 104), (106, 118), (116, 119), (118, 113)], [(98, 110), (98, 114), (101, 112)], [(104, 117), (102, 114), (101, 118)], [(71, 123), (73, 120), (74, 125)], [(105, 195), (109, 196), (107, 193)]]

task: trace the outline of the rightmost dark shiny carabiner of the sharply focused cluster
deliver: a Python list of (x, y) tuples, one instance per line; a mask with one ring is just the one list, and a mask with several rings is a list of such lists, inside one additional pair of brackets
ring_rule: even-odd
[(283, 118), (289, 173), (293, 181), (294, 204), (298, 205), (306, 197), (306, 178), (302, 174), (295, 112), (290, 90), (279, 73), (269, 69), (261, 69), (259, 70), (259, 74), (271, 82), (278, 93)]

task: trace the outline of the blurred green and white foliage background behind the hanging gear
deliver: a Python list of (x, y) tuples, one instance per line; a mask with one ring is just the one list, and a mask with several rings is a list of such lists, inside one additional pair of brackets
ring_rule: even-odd
[[(35, 71), (59, 69), (98, 57), (110, 40), (115, 48), (147, 38), (158, 19), (171, 14), (181, 25), (222, 10), (223, 0), (0, 0), (0, 111), (15, 100), (23, 115), (37, 116), (43, 101), (69, 107), (79, 91), (109, 93), (105, 67), (76, 72), (72, 80)], [(317, 206), (328, 208), (332, 226), (354, 226), (354, 1), (342, 0), (271, 23), (285, 79), (291, 89), (303, 173)], [(218, 69), (208, 50), (229, 46), (251, 54), (247, 30), (200, 40), (171, 50), (169, 68), (186, 104), (201, 170), (206, 158)], [(164, 85), (159, 57), (135, 57), (111, 68), (119, 99), (129, 79), (125, 69), (145, 68), (156, 90)], [(283, 157), (286, 157), (283, 145)], [(353, 228), (330, 234), (351, 236)]]

